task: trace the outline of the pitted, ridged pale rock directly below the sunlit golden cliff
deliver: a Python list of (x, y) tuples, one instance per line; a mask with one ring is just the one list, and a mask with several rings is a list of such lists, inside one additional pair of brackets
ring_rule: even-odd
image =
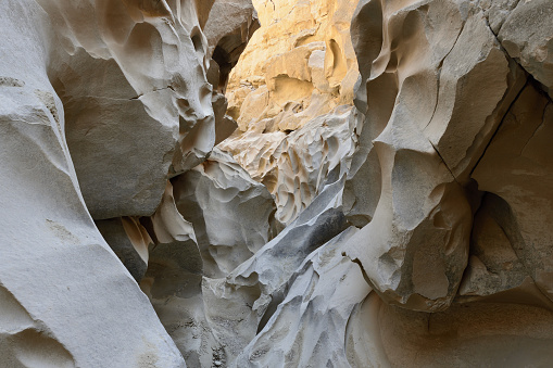
[(249, 131), (231, 137), (221, 148), (230, 150), (252, 177), (267, 187), (275, 196), (275, 217), (289, 224), (323, 190), (330, 172), (348, 170), (357, 123), (352, 107), (340, 106), (288, 136)]

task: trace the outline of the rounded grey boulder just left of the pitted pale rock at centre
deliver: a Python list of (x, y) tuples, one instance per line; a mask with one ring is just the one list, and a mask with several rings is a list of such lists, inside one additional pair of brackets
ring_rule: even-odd
[(273, 224), (276, 208), (267, 189), (218, 149), (173, 186), (178, 211), (194, 225), (208, 277), (231, 272), (265, 245), (278, 226)]

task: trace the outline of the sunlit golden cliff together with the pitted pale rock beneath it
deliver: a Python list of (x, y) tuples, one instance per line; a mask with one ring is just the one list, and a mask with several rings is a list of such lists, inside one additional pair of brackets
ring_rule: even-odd
[(357, 64), (349, 28), (355, 3), (254, 1), (262, 27), (232, 69), (228, 112), (239, 130), (221, 147), (290, 224), (337, 166), (349, 170), (360, 128), (352, 109)]

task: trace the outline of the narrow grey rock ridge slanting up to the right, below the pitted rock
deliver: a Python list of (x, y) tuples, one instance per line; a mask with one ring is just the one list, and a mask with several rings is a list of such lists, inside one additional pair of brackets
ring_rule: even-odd
[(265, 326), (303, 259), (347, 226), (341, 212), (345, 177), (335, 179), (293, 223), (226, 278), (203, 279), (206, 316), (228, 361)]

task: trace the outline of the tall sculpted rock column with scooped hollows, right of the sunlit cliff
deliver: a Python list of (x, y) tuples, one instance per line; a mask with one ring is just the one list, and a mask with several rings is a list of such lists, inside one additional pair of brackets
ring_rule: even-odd
[(370, 174), (381, 176), (381, 191), (348, 254), (386, 302), (441, 310), (467, 263), (475, 202), (462, 186), (470, 187), (470, 170), (526, 78), (481, 10), (420, 5), (364, 1), (354, 15), (357, 56), (370, 61), (355, 104), (366, 114), (367, 160), (378, 156)]

